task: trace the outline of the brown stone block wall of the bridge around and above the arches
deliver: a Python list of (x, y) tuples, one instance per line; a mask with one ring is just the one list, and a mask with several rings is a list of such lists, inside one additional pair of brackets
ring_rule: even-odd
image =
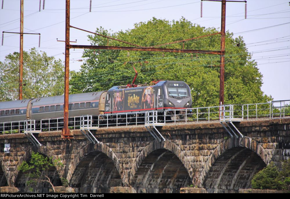
[[(60, 158), (64, 167), (56, 168), (60, 177), (69, 182), (78, 164), (93, 151), (100, 151), (112, 160), (123, 186), (131, 182), (143, 160), (157, 149), (175, 154), (185, 167), (194, 187), (203, 188), (206, 173), (217, 158), (233, 147), (254, 151), (266, 164), (290, 157), (290, 119), (241, 122), (237, 124), (244, 138), (230, 136), (219, 123), (172, 124), (160, 128), (166, 141), (159, 142), (142, 126), (101, 128), (94, 135), (100, 144), (91, 144), (80, 131), (73, 131), (73, 140), (62, 140), (60, 131), (40, 133), (42, 146), (33, 146), (24, 134), (0, 135), (0, 164), (8, 186), (14, 187), (21, 162), (28, 160), (32, 151), (53, 159)], [(9, 153), (4, 144), (9, 143)], [(108, 182), (109, 183), (109, 182)], [(106, 187), (104, 185), (104, 187)]]

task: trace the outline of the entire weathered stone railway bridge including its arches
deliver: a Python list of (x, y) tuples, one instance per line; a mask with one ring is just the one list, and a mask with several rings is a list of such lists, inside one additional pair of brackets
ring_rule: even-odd
[(237, 128), (244, 138), (230, 138), (220, 123), (170, 124), (160, 127), (166, 140), (159, 142), (143, 126), (110, 127), (94, 132), (99, 144), (77, 130), (73, 140), (62, 140), (55, 131), (40, 133), (38, 147), (24, 134), (0, 135), (0, 187), (26, 190), (27, 179), (18, 167), (35, 151), (60, 158), (64, 166), (51, 168), (49, 176), (55, 186), (66, 179), (76, 192), (251, 188), (253, 175), (266, 164), (281, 166), (289, 159), (290, 119), (240, 122)]

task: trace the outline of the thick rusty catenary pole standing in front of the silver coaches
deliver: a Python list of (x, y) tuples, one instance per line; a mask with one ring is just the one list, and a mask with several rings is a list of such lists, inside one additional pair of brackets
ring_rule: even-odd
[(65, 22), (65, 69), (64, 69), (64, 129), (62, 138), (69, 138), (69, 9), (70, 0), (66, 0), (66, 22)]

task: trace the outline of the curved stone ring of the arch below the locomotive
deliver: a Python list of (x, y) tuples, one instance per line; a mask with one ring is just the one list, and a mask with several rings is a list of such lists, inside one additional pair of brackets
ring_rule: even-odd
[[(186, 155), (181, 150), (179, 145), (177, 145), (176, 143), (174, 143), (171, 140), (165, 140), (164, 142), (163, 141), (159, 142), (157, 140), (154, 140), (154, 141), (150, 142), (149, 144), (147, 144), (147, 146), (144, 147), (144, 149), (140, 152), (140, 154), (136, 158), (135, 163), (134, 163), (134, 165), (129, 173), (129, 184), (130, 185), (132, 185), (133, 180), (134, 180), (134, 176), (136, 175), (136, 172), (140, 168), (141, 164), (144, 162), (145, 158), (147, 158), (149, 154), (152, 154), (152, 152), (158, 151), (158, 150), (160, 152), (158, 158), (160, 158), (164, 154), (170, 156), (170, 153), (172, 153), (172, 155), (174, 155), (176, 158), (178, 158), (178, 161), (181, 162), (182, 166), (185, 168), (185, 170), (187, 172), (186, 175), (188, 175), (190, 177), (190, 181), (193, 182), (193, 179), (196, 178), (194, 169), (192, 168), (192, 166), (190, 164), (190, 160), (186, 157)], [(168, 153), (168, 152), (170, 152), (170, 153)], [(174, 157), (172, 156), (171, 158), (174, 158)], [(134, 181), (134, 183), (136, 183), (136, 182)]]

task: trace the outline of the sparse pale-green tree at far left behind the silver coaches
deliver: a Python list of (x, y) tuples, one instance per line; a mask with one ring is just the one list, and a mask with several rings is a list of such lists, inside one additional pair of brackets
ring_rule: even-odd
[[(0, 101), (18, 99), (19, 53), (14, 52), (0, 62)], [(62, 61), (35, 49), (23, 52), (23, 99), (62, 95), (64, 66)]]

